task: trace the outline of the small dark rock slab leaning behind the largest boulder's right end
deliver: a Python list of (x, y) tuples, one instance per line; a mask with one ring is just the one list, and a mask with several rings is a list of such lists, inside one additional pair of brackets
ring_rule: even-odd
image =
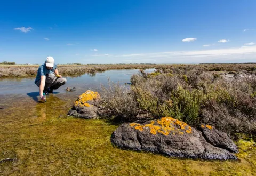
[(215, 127), (202, 124), (200, 126), (203, 137), (215, 147), (223, 148), (233, 153), (238, 153), (238, 147), (224, 132), (218, 131)]

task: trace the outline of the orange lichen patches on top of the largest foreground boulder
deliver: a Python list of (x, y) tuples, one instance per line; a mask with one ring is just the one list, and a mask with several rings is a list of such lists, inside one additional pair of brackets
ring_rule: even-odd
[[(154, 125), (155, 123), (156, 125)], [(151, 121), (150, 124), (146, 124), (146, 125), (141, 125), (138, 123), (130, 123), (130, 126), (140, 131), (143, 131), (145, 127), (149, 127), (151, 134), (156, 134), (158, 132), (163, 135), (169, 135), (171, 131), (173, 135), (175, 134), (182, 135), (184, 134), (184, 132), (192, 133), (192, 128), (188, 126), (185, 122), (179, 121), (172, 117), (163, 117), (160, 120)]]

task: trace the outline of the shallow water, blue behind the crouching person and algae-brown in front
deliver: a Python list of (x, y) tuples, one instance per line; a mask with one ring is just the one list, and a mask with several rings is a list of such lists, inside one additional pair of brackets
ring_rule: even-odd
[[(202, 161), (126, 151), (111, 145), (118, 127), (106, 119), (67, 116), (77, 96), (100, 91), (107, 78), (130, 82), (138, 70), (109, 70), (96, 75), (67, 76), (67, 84), (38, 103), (34, 78), (0, 81), (0, 175), (252, 175), (255, 150), (239, 161)], [(65, 88), (76, 87), (76, 92)], [(247, 148), (246, 148), (247, 149)]]

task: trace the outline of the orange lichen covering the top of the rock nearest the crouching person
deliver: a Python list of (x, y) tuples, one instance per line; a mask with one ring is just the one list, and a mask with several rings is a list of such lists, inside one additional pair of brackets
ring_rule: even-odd
[(88, 90), (78, 97), (78, 99), (74, 102), (74, 105), (89, 107), (90, 105), (89, 105), (88, 101), (92, 101), (97, 98), (100, 98), (100, 95), (98, 92), (93, 92), (93, 91)]

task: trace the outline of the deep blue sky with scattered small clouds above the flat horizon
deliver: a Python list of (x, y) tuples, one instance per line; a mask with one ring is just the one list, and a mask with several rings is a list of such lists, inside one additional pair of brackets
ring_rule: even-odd
[(0, 62), (256, 61), (256, 1), (4, 1)]

